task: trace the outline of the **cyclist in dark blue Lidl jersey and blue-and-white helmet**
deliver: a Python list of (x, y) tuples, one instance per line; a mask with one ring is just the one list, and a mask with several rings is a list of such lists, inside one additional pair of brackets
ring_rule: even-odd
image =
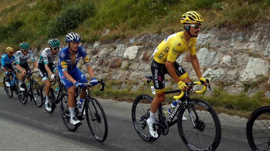
[[(72, 124), (78, 124), (81, 121), (75, 117), (74, 113), (74, 95), (75, 95), (75, 86), (83, 88), (84, 83), (87, 83), (87, 79), (82, 71), (77, 68), (77, 63), (79, 59), (83, 58), (83, 63), (86, 65), (87, 72), (90, 74), (92, 85), (98, 84), (98, 81), (95, 78), (94, 71), (89, 63), (89, 59), (86, 54), (86, 49), (79, 46), (81, 37), (77, 33), (69, 33), (66, 35), (66, 43), (68, 47), (63, 48), (59, 52), (59, 61), (58, 61), (58, 74), (61, 79), (62, 84), (67, 88), (68, 95), (68, 107), (70, 111), (70, 122)], [(80, 100), (83, 99), (85, 92), (82, 91), (80, 94)], [(79, 101), (80, 101), (79, 100)], [(79, 102), (78, 101), (78, 102)], [(81, 101), (82, 102), (82, 101)], [(81, 109), (80, 109), (81, 110)]]

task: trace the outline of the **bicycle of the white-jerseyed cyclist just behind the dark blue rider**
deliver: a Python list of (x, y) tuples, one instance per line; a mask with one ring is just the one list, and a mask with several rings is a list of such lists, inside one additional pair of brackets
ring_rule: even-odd
[[(42, 100), (42, 104), (44, 109), (48, 112), (48, 113), (52, 113), (54, 111), (54, 109), (56, 108), (56, 104), (58, 104), (60, 102), (60, 96), (62, 95), (62, 93), (65, 91), (67, 92), (66, 88), (64, 87), (64, 85), (60, 82), (60, 78), (56, 77), (55, 81), (51, 81), (52, 85), (55, 85), (56, 83), (58, 84), (58, 89), (57, 90), (53, 90), (52, 87), (50, 88), (50, 95), (49, 95), (49, 99), (50, 99), (50, 106), (52, 108), (51, 111), (48, 111), (46, 109), (46, 94), (45, 94), (45, 88), (46, 88), (46, 84), (42, 84), (41, 85), (41, 100)], [(64, 90), (64, 91), (63, 91)]]

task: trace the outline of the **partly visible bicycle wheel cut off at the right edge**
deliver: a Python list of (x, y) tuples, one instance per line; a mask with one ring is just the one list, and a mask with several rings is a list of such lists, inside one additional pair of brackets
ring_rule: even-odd
[(270, 150), (269, 122), (270, 106), (261, 106), (254, 110), (253, 113), (251, 113), (249, 116), (246, 125), (246, 135), (249, 146), (253, 151), (262, 151), (267, 149)]

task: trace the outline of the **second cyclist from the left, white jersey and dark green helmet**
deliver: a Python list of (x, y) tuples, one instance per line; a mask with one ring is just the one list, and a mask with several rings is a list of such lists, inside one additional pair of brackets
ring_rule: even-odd
[[(26, 73), (29, 73), (31, 72), (28, 64), (27, 64), (27, 59), (28, 58), (31, 58), (32, 62), (33, 62), (33, 65), (37, 68), (37, 61), (36, 59), (34, 58), (34, 54), (32, 51), (29, 50), (29, 45), (28, 43), (24, 42), (24, 43), (21, 43), (19, 45), (19, 47), (21, 48), (21, 50), (17, 51), (15, 53), (15, 63), (13, 65), (13, 67), (19, 71), (21, 74), (20, 74), (20, 83), (19, 83), (19, 86), (20, 86), (20, 90), (21, 91), (25, 91), (25, 88), (23, 87), (23, 82), (24, 82), (24, 79), (25, 79), (25, 74)], [(28, 81), (30, 81), (30, 78), (28, 78)]]

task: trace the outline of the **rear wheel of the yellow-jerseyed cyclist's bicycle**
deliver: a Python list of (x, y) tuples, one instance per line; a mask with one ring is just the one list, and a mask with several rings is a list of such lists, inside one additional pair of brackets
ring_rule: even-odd
[[(138, 135), (146, 142), (153, 142), (157, 140), (161, 135), (161, 132), (158, 131), (157, 132), (158, 138), (152, 137), (152, 135), (149, 133), (149, 128), (146, 122), (146, 120), (150, 117), (150, 104), (152, 100), (153, 100), (152, 96), (148, 94), (138, 95), (133, 102), (131, 111), (133, 126)], [(160, 111), (159, 108), (157, 108), (157, 111), (159, 113), (162, 113), (162, 111)], [(139, 115), (136, 115), (136, 113), (138, 113)], [(156, 112), (155, 119), (159, 119), (159, 117), (157, 116), (159, 116), (159, 114), (157, 114)], [(142, 118), (144, 120), (141, 120)]]

